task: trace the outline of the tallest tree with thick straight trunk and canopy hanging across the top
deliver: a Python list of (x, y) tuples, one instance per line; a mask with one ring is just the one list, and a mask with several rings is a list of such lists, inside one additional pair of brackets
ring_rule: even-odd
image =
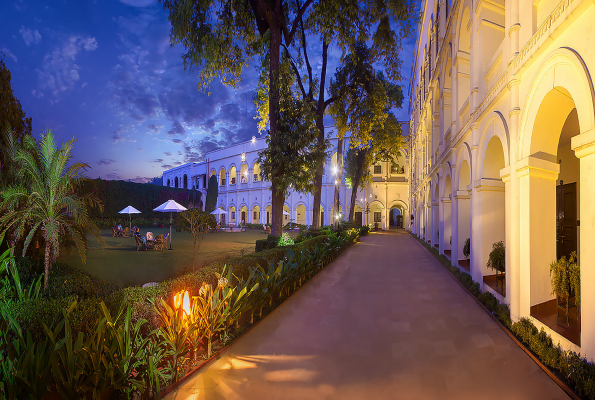
[[(186, 69), (197, 71), (203, 88), (215, 77), (236, 87), (250, 57), (265, 43), (269, 52), (269, 141), (273, 152), (289, 145), (279, 134), (279, 65), (281, 46), (292, 46), (300, 24), (312, 32), (337, 33), (338, 43), (370, 38), (385, 58), (387, 71), (398, 74), (400, 38), (413, 32), (413, 0), (160, 0), (169, 10), (172, 46), (181, 43)], [(317, 24), (306, 15), (318, 15)], [(406, 16), (407, 18), (404, 18)], [(376, 29), (371, 33), (371, 27)], [(395, 31), (393, 27), (398, 27)], [(329, 41), (330, 42), (330, 41)], [(322, 89), (324, 91), (324, 89)], [(324, 138), (324, 132), (322, 133)], [(318, 141), (324, 146), (324, 139)], [(322, 149), (324, 150), (324, 149)], [(281, 157), (279, 157), (281, 158)], [(322, 165), (323, 160), (318, 161)], [(272, 171), (283, 181), (284, 168)], [(322, 175), (321, 175), (322, 176)], [(278, 179), (277, 179), (278, 178)], [(322, 180), (320, 179), (320, 184)], [(272, 182), (272, 234), (281, 234), (283, 188)], [(318, 210), (315, 209), (317, 213)]]

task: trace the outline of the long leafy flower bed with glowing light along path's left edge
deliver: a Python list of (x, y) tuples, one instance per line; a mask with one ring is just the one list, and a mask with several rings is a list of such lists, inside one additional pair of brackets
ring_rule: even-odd
[(211, 357), (215, 343), (227, 345), (358, 238), (358, 230), (319, 236), (118, 291), (122, 306), (113, 312), (101, 301), (86, 334), (72, 330), (76, 302), (36, 340), (2, 308), (0, 398), (41, 399), (48, 388), (66, 399), (111, 391), (160, 397)]

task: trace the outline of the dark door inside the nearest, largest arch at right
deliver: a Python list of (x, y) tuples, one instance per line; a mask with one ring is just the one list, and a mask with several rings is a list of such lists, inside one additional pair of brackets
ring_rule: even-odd
[(556, 187), (557, 257), (570, 256), (577, 250), (576, 182)]

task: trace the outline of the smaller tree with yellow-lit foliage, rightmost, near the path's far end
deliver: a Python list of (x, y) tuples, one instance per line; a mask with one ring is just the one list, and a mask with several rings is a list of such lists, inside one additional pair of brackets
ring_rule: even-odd
[(351, 183), (349, 221), (353, 220), (359, 185), (366, 181), (367, 171), (379, 160), (394, 161), (404, 145), (401, 126), (391, 112), (403, 104), (401, 87), (374, 70), (374, 52), (359, 42), (353, 53), (343, 57), (329, 91), (338, 95), (330, 106), (339, 137), (349, 133), (347, 177)]

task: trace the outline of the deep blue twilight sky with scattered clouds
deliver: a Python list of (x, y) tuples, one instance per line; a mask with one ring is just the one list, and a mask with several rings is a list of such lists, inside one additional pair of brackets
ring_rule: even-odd
[[(183, 46), (170, 46), (168, 14), (157, 0), (2, 3), (0, 51), (33, 134), (51, 129), (59, 143), (75, 137), (74, 158), (89, 164), (89, 177), (147, 182), (259, 137), (255, 62), (237, 89), (215, 79), (208, 92), (199, 90), (198, 76), (184, 70)], [(320, 45), (311, 43), (316, 69)], [(405, 44), (402, 54), (407, 79), (413, 48)], [(329, 54), (332, 76), (340, 52), (331, 45)], [(407, 100), (399, 120), (409, 120)]]

